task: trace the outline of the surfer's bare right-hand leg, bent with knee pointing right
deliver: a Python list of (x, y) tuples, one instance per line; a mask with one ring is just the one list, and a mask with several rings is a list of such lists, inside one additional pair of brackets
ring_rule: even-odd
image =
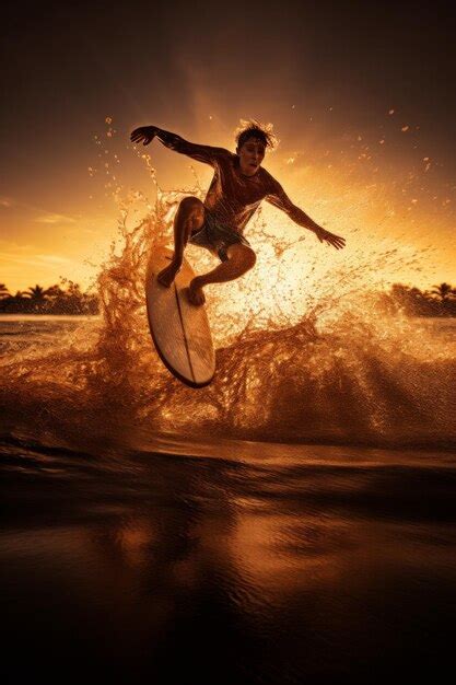
[(206, 301), (202, 288), (209, 283), (225, 283), (235, 280), (246, 274), (255, 266), (255, 252), (243, 245), (235, 243), (226, 249), (227, 259), (219, 264), (212, 271), (202, 276), (196, 276), (188, 288), (188, 299), (192, 304), (203, 304)]

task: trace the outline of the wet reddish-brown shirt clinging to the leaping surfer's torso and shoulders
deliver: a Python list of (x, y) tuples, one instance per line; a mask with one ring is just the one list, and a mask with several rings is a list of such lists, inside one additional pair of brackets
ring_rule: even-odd
[(261, 200), (267, 200), (287, 213), (294, 206), (280, 183), (262, 166), (253, 176), (241, 173), (237, 154), (223, 148), (199, 146), (174, 136), (173, 150), (198, 162), (210, 164), (214, 175), (204, 199), (204, 207), (222, 224), (244, 232)]

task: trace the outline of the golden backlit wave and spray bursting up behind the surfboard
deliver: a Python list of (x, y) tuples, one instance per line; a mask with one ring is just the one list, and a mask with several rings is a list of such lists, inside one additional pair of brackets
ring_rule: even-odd
[[(404, 264), (404, 252), (355, 255), (325, 270), (320, 253), (307, 248), (303, 259), (299, 239), (268, 233), (261, 212), (249, 231), (257, 268), (208, 288), (213, 383), (191, 390), (171, 376), (149, 335), (145, 268), (150, 249), (169, 243), (179, 199), (202, 189), (164, 193), (147, 164), (154, 205), (115, 190), (118, 237), (97, 277), (100, 325), (82, 324), (51, 348), (30, 345), (1, 362), (0, 406), (13, 426), (102, 444), (107, 434), (138, 429), (285, 442), (455, 442), (454, 345), (435, 322), (387, 317), (373, 292), (383, 267)], [(138, 201), (145, 213), (135, 222)], [(214, 264), (194, 246), (188, 256), (199, 271)]]

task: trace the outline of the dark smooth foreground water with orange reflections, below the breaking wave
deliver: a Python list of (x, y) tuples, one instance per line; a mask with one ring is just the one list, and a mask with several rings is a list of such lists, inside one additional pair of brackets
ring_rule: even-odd
[(410, 682), (449, 665), (454, 454), (2, 451), (8, 682)]

